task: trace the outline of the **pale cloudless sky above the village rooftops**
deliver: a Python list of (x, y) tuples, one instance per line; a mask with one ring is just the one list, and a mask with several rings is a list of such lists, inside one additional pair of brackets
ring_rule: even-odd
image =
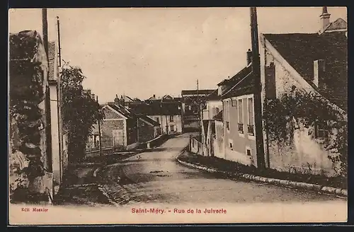
[[(331, 21), (347, 21), (346, 7), (329, 7)], [(84, 88), (100, 103), (115, 95), (147, 99), (185, 89), (217, 88), (246, 66), (251, 48), (249, 7), (49, 8), (48, 37), (62, 59), (80, 66)], [(316, 33), (321, 7), (257, 8), (258, 33)], [(40, 8), (9, 10), (9, 32), (38, 30)]]

